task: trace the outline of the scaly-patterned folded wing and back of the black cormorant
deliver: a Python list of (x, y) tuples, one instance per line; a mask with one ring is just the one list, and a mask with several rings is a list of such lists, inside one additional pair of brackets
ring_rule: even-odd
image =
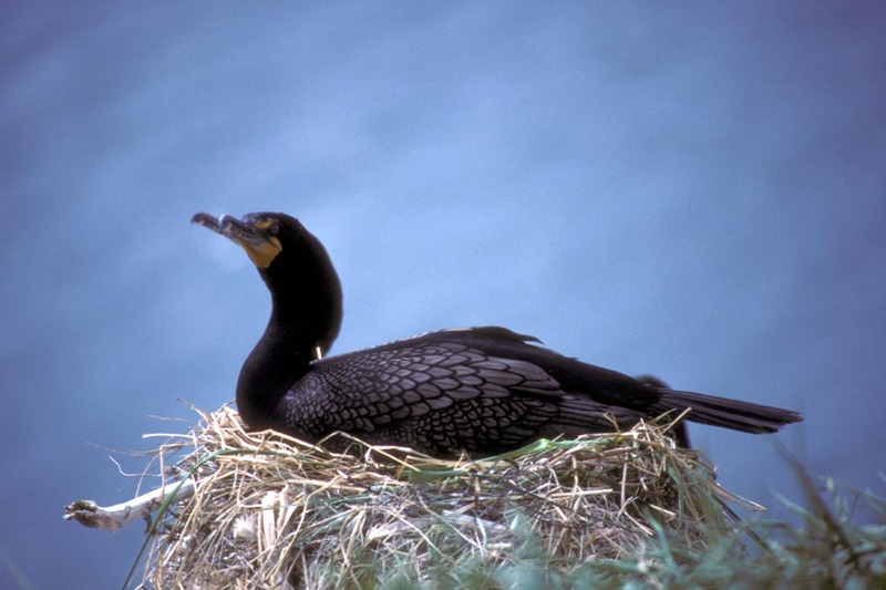
[(653, 387), (501, 328), (444, 330), (318, 361), (280, 402), (285, 429), (334, 431), (435, 455), (632, 425)]

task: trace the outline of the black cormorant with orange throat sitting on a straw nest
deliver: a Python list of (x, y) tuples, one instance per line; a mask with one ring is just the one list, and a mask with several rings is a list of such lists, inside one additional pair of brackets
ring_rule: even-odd
[(611, 432), (687, 408), (687, 420), (749, 433), (802, 420), (787, 410), (646, 384), (504, 328), (442, 330), (324, 358), (341, 327), (342, 293), (320, 241), (279, 213), (241, 220), (200, 213), (193, 221), (239, 244), (270, 290), (270, 320), (237, 383), (237, 407), (254, 429), (310, 442), (341, 431), (451, 456)]

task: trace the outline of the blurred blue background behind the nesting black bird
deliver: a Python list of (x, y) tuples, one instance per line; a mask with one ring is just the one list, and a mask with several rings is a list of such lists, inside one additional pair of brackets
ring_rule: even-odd
[[(333, 352), (502, 324), (803, 412), (814, 473), (883, 493), (886, 6), (3, 2), (0, 586), (119, 587), (143, 433), (234, 395), (269, 311), (198, 210), (327, 245)], [(786, 517), (771, 437), (707, 427)]]

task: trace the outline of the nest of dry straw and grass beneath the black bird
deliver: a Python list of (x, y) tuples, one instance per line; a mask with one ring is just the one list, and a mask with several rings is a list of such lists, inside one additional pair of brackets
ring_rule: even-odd
[[(657, 541), (690, 552), (732, 530), (703, 456), (667, 425), (539, 441), (482, 460), (434, 459), (337, 434), (336, 448), (247, 432), (225, 406), (158, 449), (195, 483), (162, 510), (144, 583), (168, 588), (501, 587), (544, 559), (568, 578), (589, 560), (642, 559)], [(167, 484), (169, 485), (169, 484)], [(477, 580), (480, 576), (482, 579)]]

